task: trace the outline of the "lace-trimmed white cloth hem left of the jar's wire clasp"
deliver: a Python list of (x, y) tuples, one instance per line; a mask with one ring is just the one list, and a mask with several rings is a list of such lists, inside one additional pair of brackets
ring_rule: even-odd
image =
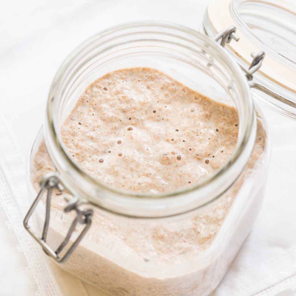
[(2, 175), (0, 181), (4, 182), (3, 187), (7, 188), (6, 194), (1, 194), (1, 205), (11, 229), (17, 236), (20, 244), (19, 249), (25, 255), (28, 270), (36, 281), (38, 295), (62, 296), (54, 276), (43, 258), (42, 249), (23, 226), (24, 213), (29, 209), (24, 162), (1, 113), (0, 125), (0, 174)]

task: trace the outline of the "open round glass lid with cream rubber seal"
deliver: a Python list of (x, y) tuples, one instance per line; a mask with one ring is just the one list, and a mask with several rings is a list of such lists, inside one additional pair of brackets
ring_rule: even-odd
[(242, 67), (251, 65), (252, 52), (265, 52), (250, 83), (254, 99), (296, 120), (296, 6), (279, 0), (211, 0), (204, 33), (213, 38), (232, 25), (240, 39), (227, 50)]

